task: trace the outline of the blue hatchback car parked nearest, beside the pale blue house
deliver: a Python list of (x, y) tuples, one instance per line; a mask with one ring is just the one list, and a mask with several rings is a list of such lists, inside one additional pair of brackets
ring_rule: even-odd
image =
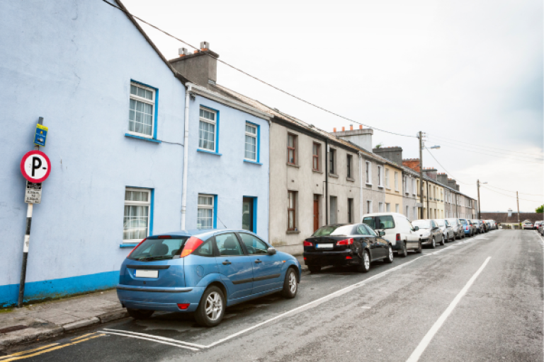
[(131, 317), (194, 312), (214, 327), (227, 306), (276, 292), (294, 298), (301, 270), (247, 230), (183, 230), (142, 240), (121, 266), (117, 295)]

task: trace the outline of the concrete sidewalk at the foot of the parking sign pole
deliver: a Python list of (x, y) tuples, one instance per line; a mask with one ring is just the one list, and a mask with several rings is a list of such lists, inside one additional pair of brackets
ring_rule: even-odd
[(0, 351), (8, 346), (127, 317), (114, 290), (0, 310)]

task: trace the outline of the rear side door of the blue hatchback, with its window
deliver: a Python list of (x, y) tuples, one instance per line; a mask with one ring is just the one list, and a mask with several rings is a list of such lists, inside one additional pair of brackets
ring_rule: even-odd
[(251, 294), (253, 288), (253, 267), (249, 256), (244, 255), (236, 234), (215, 234), (219, 256), (215, 258), (221, 279), (227, 286), (228, 299), (236, 299)]

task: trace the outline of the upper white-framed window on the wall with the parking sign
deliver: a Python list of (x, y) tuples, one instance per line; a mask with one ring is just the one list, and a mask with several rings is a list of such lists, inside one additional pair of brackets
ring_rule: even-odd
[(155, 92), (153, 88), (130, 83), (129, 133), (153, 138)]

